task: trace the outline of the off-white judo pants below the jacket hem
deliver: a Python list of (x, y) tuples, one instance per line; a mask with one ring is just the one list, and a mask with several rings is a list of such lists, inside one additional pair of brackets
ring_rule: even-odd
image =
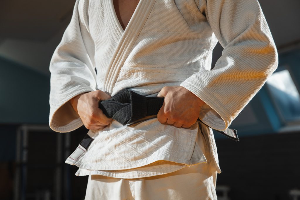
[(134, 179), (89, 175), (85, 200), (202, 200), (217, 199), (217, 171), (205, 145), (207, 163), (172, 173)]

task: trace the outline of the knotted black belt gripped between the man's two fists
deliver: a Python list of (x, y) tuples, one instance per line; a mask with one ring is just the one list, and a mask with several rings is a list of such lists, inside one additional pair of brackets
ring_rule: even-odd
[[(100, 101), (99, 108), (107, 117), (113, 118), (122, 125), (126, 125), (133, 124), (143, 118), (147, 118), (147, 116), (157, 115), (163, 103), (164, 97), (146, 97), (124, 88), (112, 98)], [(202, 122), (199, 118), (197, 120)], [(215, 131), (230, 139), (239, 141), (237, 130), (235, 129), (227, 128), (224, 131)]]

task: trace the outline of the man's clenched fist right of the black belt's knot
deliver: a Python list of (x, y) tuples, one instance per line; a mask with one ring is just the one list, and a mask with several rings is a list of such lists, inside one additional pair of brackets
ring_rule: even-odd
[(160, 123), (173, 124), (175, 127), (189, 128), (197, 121), (201, 106), (205, 104), (199, 97), (182, 86), (166, 86), (157, 97), (164, 97), (158, 111)]

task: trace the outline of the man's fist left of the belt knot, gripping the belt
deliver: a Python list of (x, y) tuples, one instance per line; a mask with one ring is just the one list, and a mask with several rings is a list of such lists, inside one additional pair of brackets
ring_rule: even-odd
[(99, 108), (100, 100), (110, 98), (111, 96), (104, 91), (96, 90), (79, 94), (70, 99), (70, 103), (87, 129), (98, 130), (105, 128), (113, 120), (107, 118)]

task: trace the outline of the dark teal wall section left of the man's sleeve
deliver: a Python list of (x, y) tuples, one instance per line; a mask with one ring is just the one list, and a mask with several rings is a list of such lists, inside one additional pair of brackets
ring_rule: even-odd
[(50, 77), (0, 58), (0, 123), (47, 124)]

